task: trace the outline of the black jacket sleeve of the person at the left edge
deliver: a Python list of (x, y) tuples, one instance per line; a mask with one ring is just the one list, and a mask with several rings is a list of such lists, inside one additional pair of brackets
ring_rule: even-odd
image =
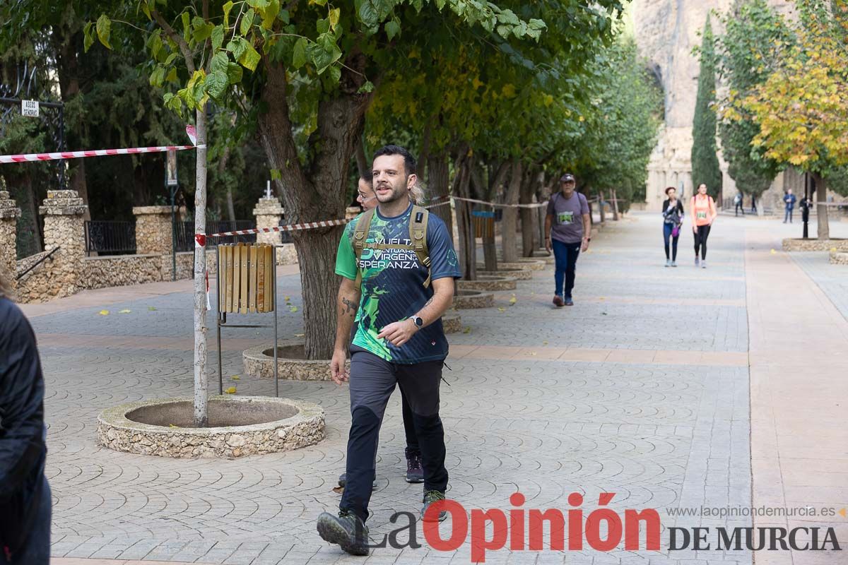
[(45, 452), (36, 336), (20, 308), (0, 298), (0, 502), (24, 488)]

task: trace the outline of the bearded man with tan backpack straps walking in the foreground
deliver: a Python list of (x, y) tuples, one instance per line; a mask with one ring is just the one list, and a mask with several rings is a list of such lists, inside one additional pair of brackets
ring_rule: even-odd
[[(377, 438), (395, 385), (410, 402), (421, 449), (422, 516), (432, 502), (444, 500), (448, 486), (438, 415), (448, 355), (441, 317), (453, 302), (460, 270), (447, 227), (410, 202), (415, 173), (416, 160), (406, 149), (379, 149), (373, 163), (377, 209), (351, 222), (338, 245), (336, 273), (343, 279), (331, 371), (338, 385), (349, 380), (352, 422), (340, 512), (321, 513), (317, 529), (321, 538), (353, 555), (368, 554), (365, 520)], [(345, 349), (354, 319), (358, 327), (347, 375)], [(444, 517), (440, 512), (436, 518)]]

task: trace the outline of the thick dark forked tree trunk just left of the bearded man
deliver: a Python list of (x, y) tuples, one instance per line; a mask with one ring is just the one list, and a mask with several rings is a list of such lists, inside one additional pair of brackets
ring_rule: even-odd
[[(344, 218), (350, 158), (361, 139), (365, 109), (371, 97), (357, 91), (364, 83), (365, 58), (350, 55), (342, 71), (339, 93), (318, 104), (318, 127), (310, 136), (310, 162), (301, 167), (288, 115), (286, 71), (267, 64), (262, 99), (268, 111), (259, 115), (259, 139), (272, 169), (280, 171), (277, 193), (287, 221), (297, 224)], [(293, 232), (300, 261), (304, 296), (306, 358), (332, 357), (336, 327), (338, 275), (335, 258), (343, 227)]]

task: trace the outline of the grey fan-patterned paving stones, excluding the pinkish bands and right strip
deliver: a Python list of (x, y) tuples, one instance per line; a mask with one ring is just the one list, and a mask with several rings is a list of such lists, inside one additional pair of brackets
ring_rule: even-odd
[[(743, 245), (731, 228), (714, 230), (709, 269), (690, 264), (683, 236), (678, 269), (663, 267), (661, 225), (635, 215), (607, 228), (578, 261), (575, 307), (550, 304), (549, 266), (497, 293), (498, 306), (462, 312), (468, 334), (457, 345), (621, 348), (745, 352)], [(826, 260), (826, 259), (825, 259)], [(280, 285), (282, 339), (302, 333), (297, 275)], [(687, 302), (686, 299), (698, 299)], [(659, 303), (645, 303), (659, 299)], [(667, 300), (668, 302), (662, 302)], [(725, 305), (711, 305), (724, 301)], [(729, 302), (728, 302), (729, 301)], [(736, 306), (727, 304), (738, 304)], [(103, 345), (102, 336), (192, 335), (187, 292), (92, 307), (32, 320), (50, 335), (90, 336), (86, 346), (43, 346), (49, 424), (47, 474), (53, 488), (53, 555), (177, 562), (468, 563), (470, 546), (440, 552), (374, 551), (344, 556), (315, 533), (344, 468), (349, 426), (346, 388), (326, 382), (281, 381), (281, 396), (316, 402), (326, 411), (327, 438), (298, 451), (237, 460), (166, 459), (108, 451), (95, 443), (103, 408), (142, 399), (190, 395), (192, 352)], [(155, 309), (150, 309), (155, 308)], [(122, 309), (130, 313), (119, 313)], [(267, 316), (244, 316), (266, 322)], [(214, 321), (214, 320), (213, 320)], [(259, 331), (261, 335), (256, 335)], [(209, 331), (214, 340), (214, 326)], [(268, 330), (229, 330), (230, 338), (267, 341)], [(242, 374), (241, 352), (224, 352), (228, 385), (238, 394), (273, 394), (273, 383)], [(214, 357), (210, 355), (210, 362)], [(214, 368), (215, 363), (210, 363)], [(566, 497), (585, 493), (588, 514), (600, 492), (610, 507), (656, 508), (664, 528), (716, 525), (673, 518), (667, 508), (750, 505), (749, 381), (745, 367), (703, 364), (555, 362), (546, 359), (448, 359), (442, 387), (449, 497), (466, 508), (511, 508), (520, 490), (525, 508), (566, 510)], [(234, 374), (240, 380), (232, 380)], [(210, 382), (215, 382), (210, 376)], [(393, 512), (417, 513), (421, 485), (403, 480), (404, 435), (399, 396), (382, 426), (378, 488), (371, 500), (372, 537), (393, 529)], [(750, 525), (750, 521), (722, 521)], [(445, 524), (443, 524), (444, 527)], [(445, 530), (447, 531), (447, 530)], [(663, 533), (663, 546), (667, 534)], [(623, 544), (622, 544), (623, 545)], [(707, 565), (750, 563), (750, 553), (720, 551), (489, 552), (487, 562)]]

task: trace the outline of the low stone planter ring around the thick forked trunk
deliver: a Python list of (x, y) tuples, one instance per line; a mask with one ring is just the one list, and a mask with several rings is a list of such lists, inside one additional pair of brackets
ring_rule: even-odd
[[(303, 341), (280, 341), (276, 347), (276, 366), (279, 379), (331, 380), (330, 360), (306, 358)], [(274, 346), (255, 346), (242, 354), (244, 372), (263, 379), (274, 378)]]

